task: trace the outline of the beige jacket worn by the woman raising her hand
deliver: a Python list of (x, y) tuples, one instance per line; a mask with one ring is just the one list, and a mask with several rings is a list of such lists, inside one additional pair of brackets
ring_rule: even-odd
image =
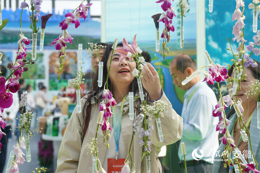
[[(153, 145), (151, 146), (151, 150), (153, 151), (150, 155), (151, 159), (151, 172), (161, 172), (161, 164), (157, 158), (161, 147), (164, 145), (169, 145), (177, 142), (181, 139), (182, 136), (182, 127), (183, 127), (183, 119), (179, 116), (173, 109), (170, 101), (167, 99), (166, 95), (163, 93), (161, 97), (162, 101), (168, 103), (168, 107), (164, 112), (164, 118), (161, 118), (161, 127), (164, 135), (164, 142), (159, 141), (156, 119), (152, 116), (152, 122), (150, 125), (154, 125), (155, 129), (153, 130), (153, 135), (150, 140)], [(86, 99), (81, 99), (81, 105), (84, 105)], [(92, 156), (91, 154), (87, 154), (89, 151), (86, 149), (86, 144), (89, 143), (90, 138), (94, 138), (96, 134), (97, 128), (97, 119), (99, 116), (99, 104), (91, 101), (91, 115), (90, 122), (88, 126), (88, 130), (86, 132), (86, 136), (82, 141), (83, 136), (83, 117), (81, 113), (77, 112), (77, 109), (73, 111), (73, 114), (70, 117), (69, 123), (66, 127), (65, 134), (62, 139), (62, 143), (60, 146), (60, 151), (57, 160), (57, 170), (56, 172), (92, 172)], [(82, 106), (83, 108), (83, 106)], [(125, 153), (126, 155), (129, 152), (131, 137), (133, 134), (132, 129), (132, 120), (129, 119), (129, 102), (125, 101), (125, 106), (123, 108), (124, 112), (122, 114), (122, 123), (121, 123), (121, 133), (123, 137), (123, 142), (125, 145)], [(138, 111), (135, 110), (135, 117), (137, 116)], [(109, 117), (110, 125), (113, 124), (112, 118)], [(141, 127), (139, 127), (140, 130)], [(143, 147), (140, 146), (139, 131), (133, 137), (133, 144), (131, 148), (131, 156), (133, 159), (133, 163), (135, 164), (135, 171), (137, 173), (144, 172), (146, 173), (146, 161), (145, 157), (141, 162)], [(103, 133), (101, 127), (99, 127), (97, 141), (98, 145), (98, 158), (103, 164), (105, 153), (107, 150), (106, 144), (103, 145), (102, 142)], [(109, 139), (114, 140), (114, 139)], [(128, 158), (130, 161), (130, 157)]]

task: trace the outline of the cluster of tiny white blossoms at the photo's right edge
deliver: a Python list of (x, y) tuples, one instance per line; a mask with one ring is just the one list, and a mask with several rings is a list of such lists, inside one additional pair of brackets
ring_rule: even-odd
[(247, 96), (247, 98), (252, 97), (256, 101), (260, 101), (260, 82), (258, 79), (255, 79), (255, 81), (251, 81), (251, 83), (251, 85), (246, 86), (248, 89), (246, 89), (245, 95)]

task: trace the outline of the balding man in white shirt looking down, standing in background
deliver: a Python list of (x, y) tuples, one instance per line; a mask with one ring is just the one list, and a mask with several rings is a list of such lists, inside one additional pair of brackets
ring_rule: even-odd
[[(170, 64), (173, 84), (182, 91), (187, 90), (181, 112), (183, 133), (180, 143), (185, 143), (185, 159), (189, 173), (212, 172), (214, 155), (219, 146), (216, 132), (218, 118), (212, 116), (212, 111), (217, 104), (213, 90), (202, 82), (199, 75), (187, 84), (181, 84), (196, 69), (195, 61), (187, 54), (177, 55)], [(182, 172), (185, 172), (181, 146), (179, 146), (178, 156), (183, 167)]]

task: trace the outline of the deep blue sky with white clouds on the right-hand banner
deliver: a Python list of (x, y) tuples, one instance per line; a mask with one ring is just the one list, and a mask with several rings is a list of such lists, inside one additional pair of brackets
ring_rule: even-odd
[[(248, 9), (248, 4), (252, 1), (245, 1), (245, 10), (244, 15), (246, 19), (244, 20), (245, 25), (245, 40), (247, 42), (245, 45), (249, 45), (249, 42), (252, 42), (252, 37), (256, 34), (252, 31), (252, 9)], [(221, 65), (226, 65), (228, 63), (232, 64), (230, 61), (233, 58), (232, 52), (226, 50), (230, 48), (229, 43), (226, 41), (231, 38), (232, 49), (235, 50), (235, 53), (238, 54), (236, 49), (238, 48), (238, 43), (232, 41), (232, 38), (235, 36), (232, 34), (233, 26), (235, 25), (232, 21), (232, 16), (236, 8), (235, 1), (214, 1), (213, 12), (209, 13), (208, 3), (205, 3), (206, 10), (206, 50), (209, 52), (214, 63), (220, 63)], [(242, 9), (242, 8), (240, 8)], [(242, 11), (242, 10), (241, 10)], [(259, 29), (259, 20), (258, 20), (258, 29)], [(260, 60), (260, 57), (256, 57), (255, 54), (251, 55), (252, 59)]]

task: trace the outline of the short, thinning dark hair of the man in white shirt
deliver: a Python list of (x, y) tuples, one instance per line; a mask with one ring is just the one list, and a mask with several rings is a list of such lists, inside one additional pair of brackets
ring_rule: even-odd
[(178, 54), (174, 57), (174, 60), (176, 62), (176, 69), (182, 73), (187, 67), (190, 67), (194, 71), (197, 69), (194, 59), (192, 59), (188, 54)]

